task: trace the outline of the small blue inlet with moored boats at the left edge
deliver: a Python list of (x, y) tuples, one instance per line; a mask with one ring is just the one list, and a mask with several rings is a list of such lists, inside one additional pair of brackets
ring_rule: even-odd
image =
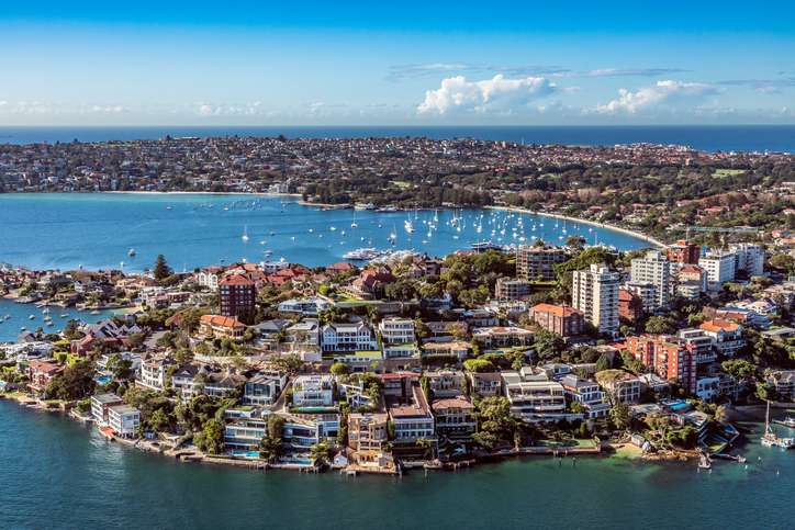
[[(43, 328), (45, 332), (57, 332), (64, 329), (66, 323), (71, 319), (82, 320), (86, 323), (96, 323), (102, 318), (108, 318), (113, 313), (110, 311), (100, 312), (99, 315), (92, 315), (88, 311), (77, 311), (72, 307), (49, 307), (49, 316), (53, 325), (47, 326), (44, 322), (44, 313), (34, 304), (16, 304), (10, 300), (0, 298), (0, 318), (10, 316), (11, 318), (0, 323), (0, 342), (15, 341), (16, 337), (22, 332), (22, 327), (30, 331), (36, 328)], [(35, 318), (30, 319), (33, 315)], [(60, 315), (67, 315), (61, 317)]]

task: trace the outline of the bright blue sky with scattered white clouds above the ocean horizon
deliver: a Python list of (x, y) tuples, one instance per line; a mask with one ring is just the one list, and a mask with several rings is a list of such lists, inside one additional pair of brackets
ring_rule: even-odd
[(795, 123), (795, 2), (0, 2), (0, 125)]

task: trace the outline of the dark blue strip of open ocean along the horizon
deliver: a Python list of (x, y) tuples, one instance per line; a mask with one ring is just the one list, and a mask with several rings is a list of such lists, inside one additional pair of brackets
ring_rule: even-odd
[(157, 139), (171, 136), (278, 136), (349, 138), (369, 136), (471, 137), (526, 144), (602, 145), (678, 144), (706, 151), (795, 153), (795, 125), (660, 125), (660, 126), (159, 126), (159, 127), (0, 127), (0, 143), (31, 144)]

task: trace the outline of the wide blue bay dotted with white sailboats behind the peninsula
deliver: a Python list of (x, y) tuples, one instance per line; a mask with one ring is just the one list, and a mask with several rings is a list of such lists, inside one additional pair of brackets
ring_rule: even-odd
[[(528, 243), (540, 237), (561, 243), (575, 234), (620, 249), (648, 246), (618, 232), (534, 215), (523, 215), (524, 230), (514, 238), (518, 214), (508, 217), (506, 212), (481, 210), (439, 211), (437, 229), (428, 236), (427, 223), (434, 215), (324, 212), (302, 206), (295, 198), (253, 195), (5, 194), (0, 195), (0, 262), (61, 270), (123, 263), (125, 270), (143, 270), (164, 253), (176, 270), (280, 258), (316, 267), (339, 261), (345, 252), (360, 247), (444, 256), (483, 239), (511, 244), (520, 243), (519, 237)], [(461, 232), (448, 225), (454, 215), (462, 218)], [(481, 215), (483, 227), (478, 233)], [(414, 234), (404, 229), (408, 218)], [(358, 227), (351, 227), (354, 223)], [(505, 227), (505, 234), (497, 230), (492, 236), (494, 227)], [(248, 241), (243, 240), (244, 230)], [(393, 247), (389, 243), (392, 230), (396, 234)], [(128, 256), (131, 248), (135, 257)]]

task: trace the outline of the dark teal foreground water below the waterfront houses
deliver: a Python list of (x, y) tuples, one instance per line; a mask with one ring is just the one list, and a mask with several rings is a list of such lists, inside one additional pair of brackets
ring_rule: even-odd
[(713, 473), (538, 458), (403, 478), (266, 474), (178, 464), (0, 401), (0, 527), (792, 528), (795, 453), (742, 451), (747, 470)]

